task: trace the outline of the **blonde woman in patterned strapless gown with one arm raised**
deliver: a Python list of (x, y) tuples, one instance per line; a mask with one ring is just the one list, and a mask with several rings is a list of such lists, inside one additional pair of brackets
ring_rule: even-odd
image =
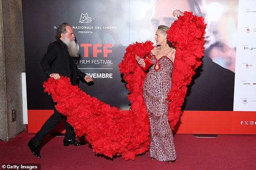
[[(182, 16), (183, 12), (175, 10), (174, 16)], [(152, 160), (176, 160), (172, 130), (168, 123), (167, 94), (172, 84), (172, 67), (175, 58), (175, 48), (166, 37), (169, 27), (159, 25), (155, 33), (156, 45), (151, 50), (153, 66), (149, 69), (143, 85), (143, 98), (149, 114), (151, 127), (150, 156)], [(138, 64), (145, 67), (145, 62), (136, 55)]]

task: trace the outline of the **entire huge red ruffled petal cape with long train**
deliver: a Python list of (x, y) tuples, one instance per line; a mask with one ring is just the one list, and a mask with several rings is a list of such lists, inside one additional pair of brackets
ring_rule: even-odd
[[(185, 12), (168, 31), (168, 40), (176, 47), (172, 72), (172, 90), (168, 93), (169, 122), (173, 129), (181, 114), (180, 106), (184, 101), (187, 84), (195, 74), (194, 70), (201, 61), (204, 51), (204, 19), (192, 12)], [(57, 102), (56, 109), (67, 116), (67, 122), (74, 127), (77, 136), (85, 135), (93, 151), (112, 158), (122, 155), (125, 160), (134, 160), (135, 156), (149, 149), (149, 119), (142, 96), (145, 72), (138, 67), (135, 53), (143, 57), (153, 49), (153, 43), (135, 43), (126, 48), (124, 60), (119, 64), (120, 73), (128, 83), (128, 99), (131, 110), (120, 111), (116, 107), (99, 101), (82, 92), (78, 86), (72, 86), (69, 78), (59, 80), (49, 78), (44, 82), (45, 92), (52, 94)]]

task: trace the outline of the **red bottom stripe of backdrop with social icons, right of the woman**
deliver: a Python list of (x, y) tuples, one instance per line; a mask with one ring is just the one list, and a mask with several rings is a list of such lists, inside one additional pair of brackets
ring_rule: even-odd
[(256, 134), (256, 112), (183, 111), (174, 129), (174, 133)]

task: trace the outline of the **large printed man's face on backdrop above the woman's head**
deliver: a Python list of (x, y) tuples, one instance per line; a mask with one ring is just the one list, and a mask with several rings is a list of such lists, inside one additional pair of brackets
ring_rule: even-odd
[(159, 0), (155, 5), (155, 11), (151, 19), (154, 31), (157, 30), (158, 25), (166, 25), (168, 27), (177, 18), (172, 15), (174, 10), (191, 11), (187, 0)]

